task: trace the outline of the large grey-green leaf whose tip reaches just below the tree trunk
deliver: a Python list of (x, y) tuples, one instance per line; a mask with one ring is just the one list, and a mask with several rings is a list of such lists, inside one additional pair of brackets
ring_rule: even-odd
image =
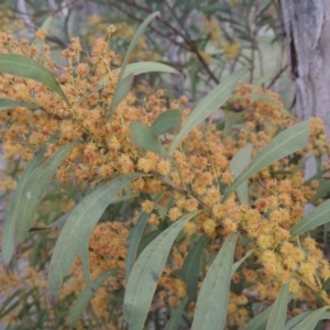
[(276, 135), (250, 163), (246, 170), (241, 173), (233, 184), (227, 190), (223, 200), (233, 193), (241, 184), (251, 177), (253, 174), (273, 164), (274, 162), (293, 154), (299, 148), (302, 148), (309, 134), (309, 122), (304, 121), (294, 127), (286, 129)]

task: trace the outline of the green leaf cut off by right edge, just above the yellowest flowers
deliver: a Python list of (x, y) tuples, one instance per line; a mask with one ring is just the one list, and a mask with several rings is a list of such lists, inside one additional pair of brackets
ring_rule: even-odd
[(292, 230), (290, 235), (297, 237), (301, 233), (324, 224), (330, 221), (330, 199), (315, 208), (308, 216), (300, 220)]

